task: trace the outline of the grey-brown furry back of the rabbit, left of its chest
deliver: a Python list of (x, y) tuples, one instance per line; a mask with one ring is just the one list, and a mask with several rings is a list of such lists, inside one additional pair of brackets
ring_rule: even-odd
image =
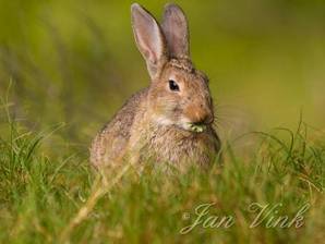
[(123, 157), (135, 115), (140, 113), (146, 94), (147, 89), (134, 94), (97, 134), (91, 148), (91, 162), (94, 166), (115, 163)]

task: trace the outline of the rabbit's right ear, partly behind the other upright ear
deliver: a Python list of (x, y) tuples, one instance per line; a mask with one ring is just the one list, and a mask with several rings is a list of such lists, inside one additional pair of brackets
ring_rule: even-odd
[(165, 5), (161, 27), (171, 57), (190, 58), (188, 21), (179, 5)]

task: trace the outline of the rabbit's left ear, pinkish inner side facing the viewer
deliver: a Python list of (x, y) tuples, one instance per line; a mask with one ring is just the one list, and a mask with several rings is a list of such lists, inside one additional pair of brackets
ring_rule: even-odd
[(146, 61), (151, 77), (155, 78), (167, 59), (165, 36), (157, 21), (140, 4), (131, 5), (131, 14), (136, 46)]

